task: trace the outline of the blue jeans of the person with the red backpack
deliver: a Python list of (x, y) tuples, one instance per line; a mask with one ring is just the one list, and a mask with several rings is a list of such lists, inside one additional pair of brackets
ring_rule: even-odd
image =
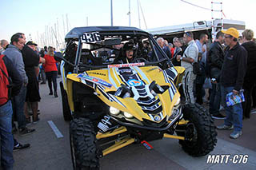
[(14, 164), (14, 138), (11, 132), (12, 115), (12, 105), (8, 101), (6, 105), (0, 107), (1, 167), (3, 169), (12, 169)]

